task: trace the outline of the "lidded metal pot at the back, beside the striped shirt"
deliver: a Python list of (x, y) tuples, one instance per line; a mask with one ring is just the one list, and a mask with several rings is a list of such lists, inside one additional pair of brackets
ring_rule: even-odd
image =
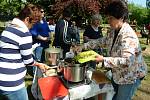
[(62, 49), (60, 48), (47, 48), (45, 49), (45, 63), (50, 66), (59, 64), (62, 58)]

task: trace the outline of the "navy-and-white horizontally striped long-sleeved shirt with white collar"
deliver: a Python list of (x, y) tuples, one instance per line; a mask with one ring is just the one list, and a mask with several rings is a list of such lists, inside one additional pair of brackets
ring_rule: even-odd
[(14, 18), (0, 36), (0, 90), (16, 91), (25, 86), (25, 65), (32, 64), (32, 35)]

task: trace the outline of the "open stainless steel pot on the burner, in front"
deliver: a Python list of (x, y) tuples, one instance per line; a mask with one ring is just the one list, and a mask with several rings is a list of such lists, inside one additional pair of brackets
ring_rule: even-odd
[(65, 66), (63, 70), (64, 78), (70, 82), (80, 82), (85, 79), (85, 67), (80, 64)]

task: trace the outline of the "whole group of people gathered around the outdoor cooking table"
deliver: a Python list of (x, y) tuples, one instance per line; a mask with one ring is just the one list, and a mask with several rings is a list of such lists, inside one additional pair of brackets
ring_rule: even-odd
[[(110, 31), (103, 36), (99, 14), (91, 16), (90, 24), (80, 42), (79, 28), (72, 21), (71, 9), (64, 9), (53, 28), (53, 46), (63, 50), (63, 57), (72, 49), (74, 52), (94, 50), (99, 53), (91, 66), (102, 63), (112, 72), (111, 82), (115, 95), (113, 100), (131, 100), (146, 75), (147, 66), (135, 31), (127, 23), (126, 3), (117, 0), (105, 8)], [(72, 22), (71, 22), (72, 21)], [(26, 5), (0, 36), (0, 99), (28, 100), (25, 88), (26, 67), (33, 66), (42, 72), (48, 69), (44, 64), (44, 50), (51, 48), (51, 29), (45, 20), (44, 9), (33, 4)], [(78, 45), (80, 44), (80, 45)], [(73, 45), (73, 46), (72, 46)], [(102, 48), (108, 49), (108, 56), (102, 55)], [(40, 62), (40, 63), (39, 63)]]

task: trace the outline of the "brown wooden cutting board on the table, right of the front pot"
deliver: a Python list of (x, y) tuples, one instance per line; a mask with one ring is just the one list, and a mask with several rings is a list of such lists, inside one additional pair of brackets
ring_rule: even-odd
[(111, 83), (111, 81), (101, 71), (93, 71), (92, 80), (94, 80), (97, 84)]

